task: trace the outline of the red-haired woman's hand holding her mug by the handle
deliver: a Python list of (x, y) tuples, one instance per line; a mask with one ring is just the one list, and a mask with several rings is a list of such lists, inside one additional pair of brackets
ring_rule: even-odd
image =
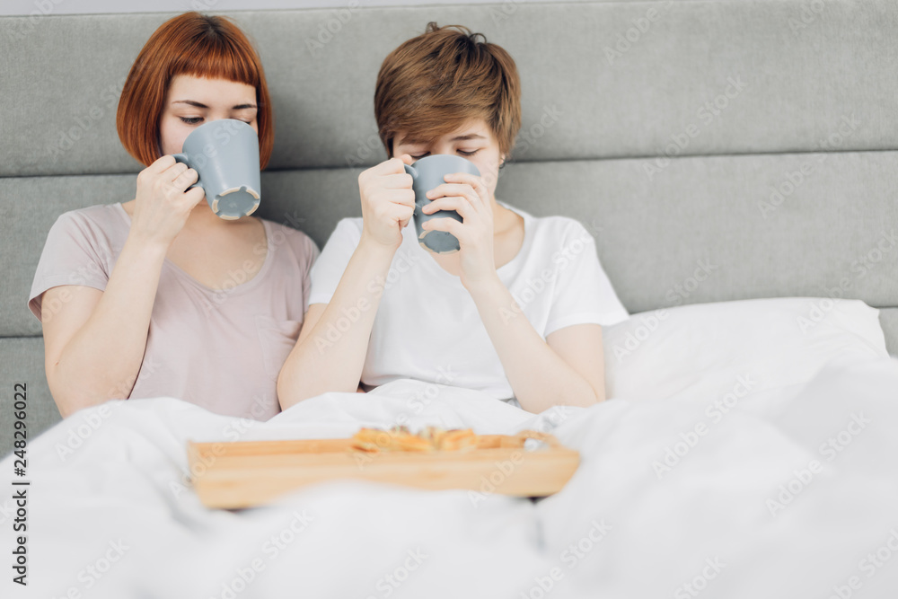
[(129, 234), (168, 248), (187, 222), (190, 211), (206, 198), (202, 188), (187, 189), (198, 177), (196, 171), (170, 155), (147, 166), (137, 175)]

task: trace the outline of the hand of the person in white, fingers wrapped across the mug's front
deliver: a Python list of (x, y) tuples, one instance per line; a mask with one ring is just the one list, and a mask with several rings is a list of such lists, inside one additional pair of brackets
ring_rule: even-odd
[(422, 228), (452, 233), (458, 239), (459, 277), (462, 286), (471, 291), (497, 277), (489, 190), (480, 177), (466, 172), (448, 174), (444, 181), (427, 192), (427, 198), (432, 201), (421, 212), (429, 215), (438, 210), (455, 210), (462, 216), (462, 222), (448, 217), (431, 218)]

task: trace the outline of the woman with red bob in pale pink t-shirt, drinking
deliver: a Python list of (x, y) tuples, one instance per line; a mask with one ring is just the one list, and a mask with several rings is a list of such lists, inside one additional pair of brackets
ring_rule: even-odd
[(146, 42), (119, 100), (119, 138), (146, 167), (135, 198), (60, 216), (31, 287), (64, 417), (159, 396), (246, 418), (279, 410), (318, 249), (258, 217), (219, 218), (189, 189), (198, 174), (172, 154), (216, 119), (256, 130), (264, 168), (274, 130), (256, 51), (224, 17), (181, 14)]

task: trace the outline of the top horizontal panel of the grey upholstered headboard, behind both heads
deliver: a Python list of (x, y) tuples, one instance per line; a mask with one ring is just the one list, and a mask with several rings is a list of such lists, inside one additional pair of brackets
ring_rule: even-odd
[[(468, 25), (515, 57), (524, 90), (517, 160), (651, 156), (672, 143), (682, 155), (810, 151), (852, 114), (860, 125), (837, 149), (894, 148), (898, 93), (888, 74), (898, 5), (842, 0), (814, 12), (809, 4), (498, 3), (233, 16), (270, 81), (277, 169), (379, 162), (378, 67), (428, 21)], [(0, 176), (133, 172), (115, 132), (116, 98), (169, 16), (0, 19)], [(674, 137), (683, 134), (681, 149)]]

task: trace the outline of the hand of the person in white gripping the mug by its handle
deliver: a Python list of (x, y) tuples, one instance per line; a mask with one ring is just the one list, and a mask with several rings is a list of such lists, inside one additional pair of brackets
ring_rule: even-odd
[(401, 245), (402, 229), (415, 213), (412, 179), (403, 163), (412, 163), (409, 154), (391, 158), (358, 175), (362, 238), (394, 250)]

